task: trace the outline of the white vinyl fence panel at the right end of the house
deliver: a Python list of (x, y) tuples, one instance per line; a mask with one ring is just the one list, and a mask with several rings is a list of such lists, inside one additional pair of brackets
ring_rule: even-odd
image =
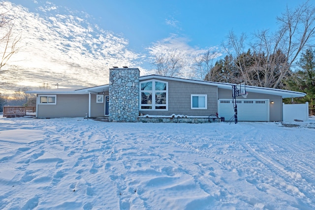
[(284, 119), (283, 121), (294, 121), (294, 120), (309, 120), (309, 102), (305, 104), (284, 104)]

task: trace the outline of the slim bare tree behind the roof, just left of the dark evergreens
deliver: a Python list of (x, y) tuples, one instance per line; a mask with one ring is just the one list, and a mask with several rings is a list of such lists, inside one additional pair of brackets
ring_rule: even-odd
[(212, 71), (214, 67), (213, 62), (219, 54), (220, 53), (217, 50), (209, 49), (194, 59), (193, 67), (195, 71), (195, 77), (198, 80), (214, 81), (215, 72)]

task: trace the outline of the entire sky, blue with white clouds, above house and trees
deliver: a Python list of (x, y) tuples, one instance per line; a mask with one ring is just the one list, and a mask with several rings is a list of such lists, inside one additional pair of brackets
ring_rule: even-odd
[[(230, 30), (249, 35), (262, 29), (275, 31), (276, 17), (286, 6), (295, 8), (303, 1), (9, 2), (18, 19), (16, 30), (23, 37), (23, 48), (12, 61), (22, 66), (25, 74), (31, 75), (18, 85), (35, 88), (43, 83), (59, 83), (59, 87), (79, 88), (106, 84), (108, 68), (113, 65), (139, 67), (142, 74), (151, 73), (154, 67), (149, 58), (154, 50), (176, 48), (186, 52), (184, 57), (189, 60), (189, 55), (207, 49), (220, 51), (221, 42)], [(100, 76), (103, 71), (105, 73)], [(37, 75), (36, 72), (41, 73)], [(91, 72), (98, 75), (91, 75)], [(86, 75), (91, 76), (87, 78)], [(191, 73), (186, 77), (189, 75)]]

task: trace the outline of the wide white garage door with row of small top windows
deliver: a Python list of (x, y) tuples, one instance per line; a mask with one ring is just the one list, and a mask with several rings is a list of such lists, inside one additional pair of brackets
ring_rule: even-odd
[[(239, 121), (269, 121), (269, 99), (238, 99), (237, 119)], [(218, 113), (225, 121), (234, 116), (233, 100), (219, 99)]]

